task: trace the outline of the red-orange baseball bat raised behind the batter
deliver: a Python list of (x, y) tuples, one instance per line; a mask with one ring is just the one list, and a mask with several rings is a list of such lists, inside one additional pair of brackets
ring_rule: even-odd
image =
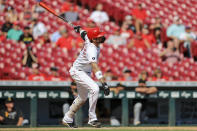
[(66, 23), (68, 23), (70, 26), (75, 27), (75, 25), (72, 24), (72, 22), (68, 21), (67, 19), (63, 18), (62, 16), (58, 15), (53, 9), (49, 8), (44, 2), (41, 0), (37, 0), (39, 2), (39, 5), (46, 9), (48, 12), (52, 13), (53, 15), (57, 16), (58, 18), (62, 19)]

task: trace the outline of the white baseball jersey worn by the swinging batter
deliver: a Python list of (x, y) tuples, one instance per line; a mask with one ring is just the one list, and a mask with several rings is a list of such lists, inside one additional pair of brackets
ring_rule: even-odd
[(92, 62), (97, 62), (100, 54), (100, 48), (90, 42), (88, 36), (85, 36), (84, 47), (81, 50), (78, 58), (75, 60), (73, 67), (77, 70), (82, 70), (88, 73), (92, 71)]

